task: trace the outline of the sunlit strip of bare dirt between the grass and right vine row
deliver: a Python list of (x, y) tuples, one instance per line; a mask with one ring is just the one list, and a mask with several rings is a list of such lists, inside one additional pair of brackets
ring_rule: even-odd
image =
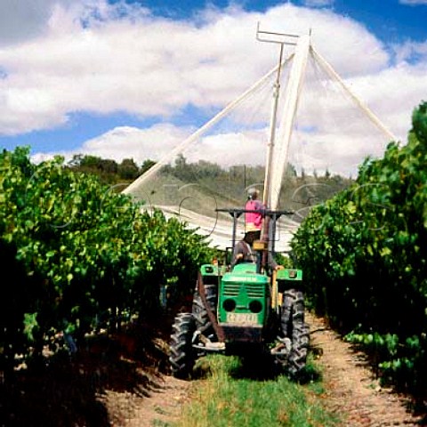
[(364, 353), (343, 342), (324, 319), (309, 314), (308, 321), (326, 407), (343, 418), (343, 426), (427, 425), (422, 415), (414, 414), (411, 399), (380, 385)]

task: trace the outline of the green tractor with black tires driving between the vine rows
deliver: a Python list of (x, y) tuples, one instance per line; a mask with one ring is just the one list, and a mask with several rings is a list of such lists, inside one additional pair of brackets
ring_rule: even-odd
[[(232, 247), (238, 217), (244, 209), (224, 209), (233, 216)], [(265, 211), (269, 241), (253, 244), (256, 262), (200, 267), (191, 312), (179, 313), (170, 340), (172, 374), (191, 375), (196, 360), (221, 352), (245, 356), (261, 350), (284, 367), (289, 376), (301, 375), (309, 347), (304, 321), (302, 270), (273, 269), (276, 222), (286, 211)]]

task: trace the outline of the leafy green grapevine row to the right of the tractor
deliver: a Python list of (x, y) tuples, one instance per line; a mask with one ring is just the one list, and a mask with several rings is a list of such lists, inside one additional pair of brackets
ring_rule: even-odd
[(368, 158), (355, 185), (318, 205), (293, 251), (315, 309), (375, 357), (383, 379), (427, 381), (427, 102), (407, 144)]

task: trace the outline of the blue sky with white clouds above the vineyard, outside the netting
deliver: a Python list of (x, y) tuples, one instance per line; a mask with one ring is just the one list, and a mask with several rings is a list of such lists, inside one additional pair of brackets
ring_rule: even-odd
[(157, 159), (270, 69), (257, 21), (311, 28), (367, 105), (407, 133), (427, 99), (427, 0), (0, 0), (1, 147)]

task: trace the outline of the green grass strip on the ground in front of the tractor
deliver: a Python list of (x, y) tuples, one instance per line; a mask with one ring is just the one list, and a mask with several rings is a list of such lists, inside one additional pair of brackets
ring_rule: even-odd
[(208, 365), (208, 376), (195, 382), (177, 427), (338, 425), (323, 407), (316, 381), (300, 384), (285, 375), (243, 375), (257, 366), (245, 367), (236, 357), (210, 356), (203, 364)]

